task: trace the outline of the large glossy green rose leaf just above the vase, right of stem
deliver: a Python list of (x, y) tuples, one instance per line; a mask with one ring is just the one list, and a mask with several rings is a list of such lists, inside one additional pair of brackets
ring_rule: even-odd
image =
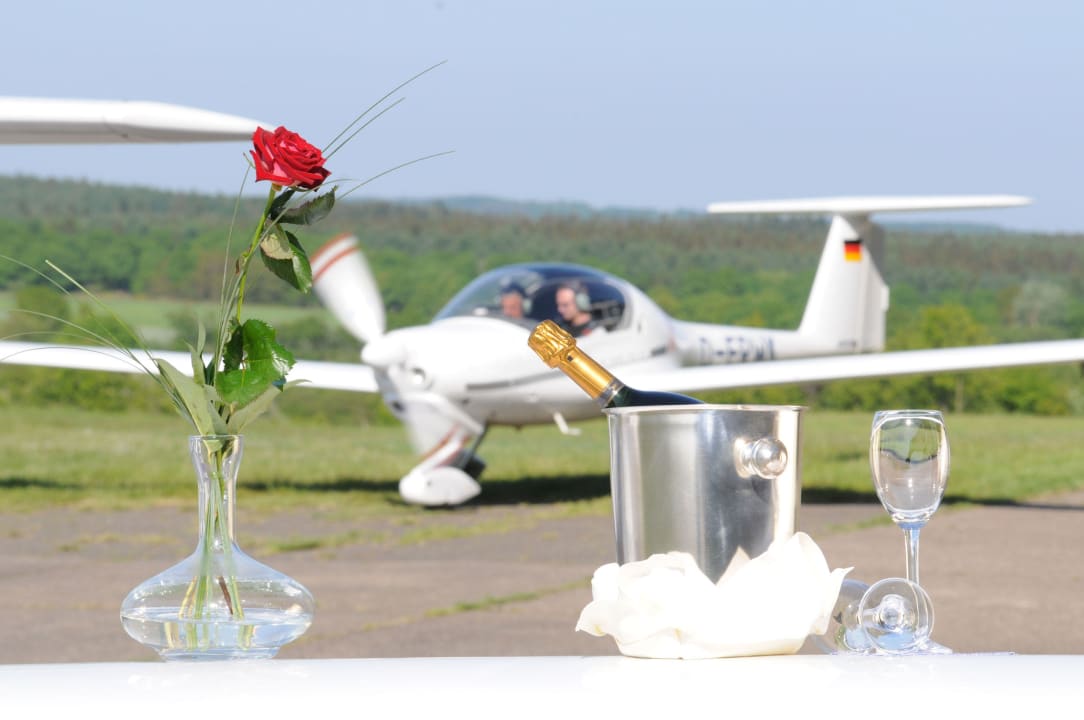
[(274, 329), (261, 320), (246, 320), (233, 331), (223, 360), (215, 386), (234, 412), (269, 388), (282, 388), (286, 373), (294, 367), (293, 353), (275, 342)]

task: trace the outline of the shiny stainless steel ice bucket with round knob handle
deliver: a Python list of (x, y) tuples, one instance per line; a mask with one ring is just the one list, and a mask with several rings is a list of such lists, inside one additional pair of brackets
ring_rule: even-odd
[(793, 535), (801, 476), (796, 406), (606, 410), (619, 563), (680, 550), (718, 580)]

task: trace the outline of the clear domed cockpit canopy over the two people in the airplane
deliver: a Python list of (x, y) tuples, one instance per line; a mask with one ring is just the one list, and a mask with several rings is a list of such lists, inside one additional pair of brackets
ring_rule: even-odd
[[(557, 288), (573, 287), (595, 322), (606, 330), (622, 324), (627, 300), (624, 293), (604, 272), (576, 265), (512, 265), (479, 275), (449, 300), (435, 320), (459, 316), (492, 317), (525, 327), (533, 327), (557, 316)], [(515, 297), (519, 295), (520, 301)], [(522, 314), (515, 308), (521, 306)]]

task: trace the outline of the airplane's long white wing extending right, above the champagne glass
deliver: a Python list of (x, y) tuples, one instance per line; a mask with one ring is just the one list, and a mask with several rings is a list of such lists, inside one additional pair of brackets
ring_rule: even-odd
[(621, 380), (645, 389), (694, 391), (1073, 362), (1084, 362), (1084, 339), (622, 372)]

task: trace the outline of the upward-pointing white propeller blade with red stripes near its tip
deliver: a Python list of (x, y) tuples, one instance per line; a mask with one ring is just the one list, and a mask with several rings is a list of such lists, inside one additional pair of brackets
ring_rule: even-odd
[(353, 235), (340, 235), (312, 255), (312, 287), (324, 307), (362, 343), (384, 335), (384, 300)]

